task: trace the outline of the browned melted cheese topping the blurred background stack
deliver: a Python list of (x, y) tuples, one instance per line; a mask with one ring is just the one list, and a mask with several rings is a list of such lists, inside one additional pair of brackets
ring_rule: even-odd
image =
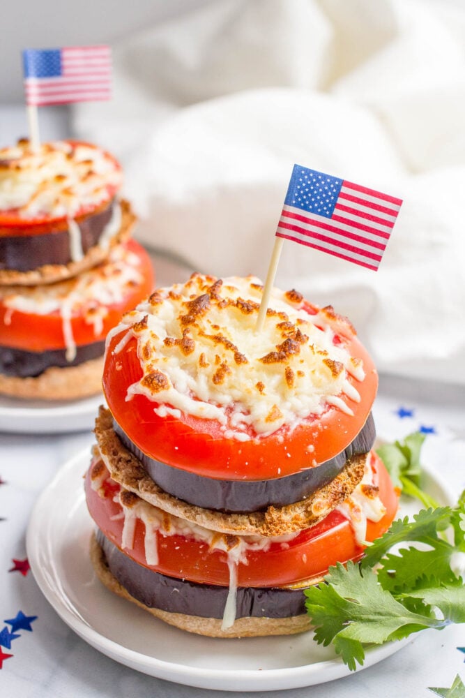
[(33, 152), (22, 140), (0, 149), (0, 209), (15, 209), (25, 221), (74, 218), (109, 200), (108, 187), (121, 184), (119, 165), (93, 145), (54, 141)]

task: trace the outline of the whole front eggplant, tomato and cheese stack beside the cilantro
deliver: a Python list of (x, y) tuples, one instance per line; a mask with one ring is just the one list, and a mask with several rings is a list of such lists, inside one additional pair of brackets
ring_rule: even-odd
[(377, 374), (348, 320), (254, 277), (193, 274), (107, 336), (85, 478), (101, 581), (213, 637), (306, 630), (303, 591), (398, 497), (371, 450)]

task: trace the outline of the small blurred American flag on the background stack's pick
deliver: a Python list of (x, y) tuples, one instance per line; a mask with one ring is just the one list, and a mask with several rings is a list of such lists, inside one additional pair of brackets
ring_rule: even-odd
[(27, 105), (43, 107), (112, 96), (109, 46), (26, 49), (22, 57)]

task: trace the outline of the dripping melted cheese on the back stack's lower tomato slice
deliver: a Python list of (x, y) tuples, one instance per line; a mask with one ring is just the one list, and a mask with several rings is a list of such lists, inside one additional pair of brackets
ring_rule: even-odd
[(33, 315), (59, 313), (66, 359), (71, 362), (76, 356), (73, 318), (82, 315), (84, 322), (93, 327), (94, 336), (100, 337), (108, 306), (121, 303), (128, 289), (142, 280), (137, 255), (115, 246), (105, 263), (75, 279), (41, 286), (0, 287), (0, 299), (8, 313), (4, 322), (10, 324), (15, 311)]

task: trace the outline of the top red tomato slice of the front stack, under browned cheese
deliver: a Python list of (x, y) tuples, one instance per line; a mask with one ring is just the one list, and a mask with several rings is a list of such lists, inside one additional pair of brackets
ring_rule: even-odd
[(284, 426), (266, 437), (238, 441), (226, 438), (215, 419), (186, 413), (179, 418), (171, 414), (160, 417), (153, 411), (158, 404), (142, 394), (126, 401), (128, 387), (142, 377), (142, 369), (135, 339), (114, 353), (123, 334), (116, 334), (109, 342), (103, 373), (105, 397), (114, 419), (151, 458), (205, 477), (270, 480), (328, 461), (362, 429), (378, 385), (372, 359), (352, 335), (344, 340), (347, 350), (362, 359), (365, 369), (363, 381), (349, 377), (360, 394), (360, 402), (351, 403), (353, 415), (328, 407), (323, 415), (311, 415), (292, 430)]

